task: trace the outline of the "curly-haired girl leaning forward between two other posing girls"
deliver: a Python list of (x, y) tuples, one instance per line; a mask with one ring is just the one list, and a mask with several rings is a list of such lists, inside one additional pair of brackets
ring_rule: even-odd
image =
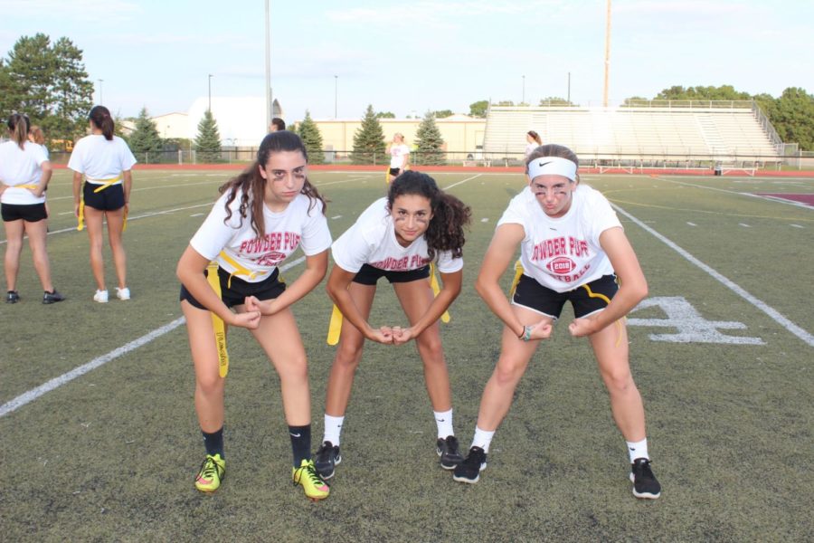
[[(390, 185), (332, 247), (334, 268), (327, 291), (344, 316), (327, 385), (325, 436), (317, 450), (317, 470), (324, 478), (341, 462), (339, 434), (345, 420), (364, 339), (402, 345), (415, 339), (435, 412), (436, 452), (451, 470), (463, 460), (452, 429), (450, 376), (440, 343), (438, 319), (460, 292), (461, 248), (471, 212), (458, 198), (444, 194), (431, 176), (407, 171)], [(443, 288), (433, 298), (430, 263), (435, 262)], [(374, 327), (369, 323), (376, 282), (393, 284), (408, 328)]]

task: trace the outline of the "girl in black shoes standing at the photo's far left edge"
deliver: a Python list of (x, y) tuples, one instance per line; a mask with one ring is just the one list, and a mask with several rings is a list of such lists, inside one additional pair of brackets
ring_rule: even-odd
[(0, 210), (5, 226), (5, 303), (17, 303), (17, 272), (23, 236), (33, 254), (34, 270), (43, 285), (43, 303), (62, 301), (51, 281), (51, 264), (45, 250), (48, 213), (45, 188), (51, 180), (51, 162), (42, 146), (28, 141), (28, 117), (14, 113), (8, 119), (11, 141), (0, 144)]

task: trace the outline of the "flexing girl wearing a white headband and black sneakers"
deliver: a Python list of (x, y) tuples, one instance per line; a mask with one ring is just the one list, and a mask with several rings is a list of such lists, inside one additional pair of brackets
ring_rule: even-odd
[[(628, 443), (633, 494), (655, 499), (661, 486), (650, 469), (644, 407), (630, 374), (624, 323), (625, 315), (647, 296), (648, 283), (608, 200), (578, 184), (578, 165), (569, 148), (535, 149), (526, 160), (529, 185), (512, 199), (484, 256), (475, 288), (505, 326), (469, 455), (453, 478), (478, 481), (517, 383), (570, 301), (575, 319), (568, 331), (591, 341), (613, 418)], [(499, 281), (518, 245), (522, 275), (509, 301)]]

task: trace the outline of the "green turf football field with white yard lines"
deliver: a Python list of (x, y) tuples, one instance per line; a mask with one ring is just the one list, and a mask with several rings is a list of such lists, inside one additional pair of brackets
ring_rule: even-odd
[[(624, 442), (587, 341), (567, 334), (566, 310), (518, 387), (476, 485), (456, 483), (438, 466), (412, 345), (369, 345), (347, 413), (344, 462), (330, 498), (311, 503), (291, 486), (277, 376), (238, 329), (230, 334), (226, 396), (229, 477), (213, 496), (194, 490), (203, 446), (175, 262), (229, 175), (135, 173), (125, 238), (133, 299), (102, 305), (91, 300), (87, 235), (73, 229), (70, 177), (56, 172), (48, 191), (48, 243), (54, 283), (68, 300), (40, 303), (26, 248), (22, 301), (0, 309), (0, 539), (812, 537), (814, 319), (807, 295), (814, 213), (751, 194), (811, 194), (814, 180), (583, 177), (618, 206), (648, 277), (648, 307), (630, 314), (629, 337), (649, 449), (664, 488), (659, 500), (631, 495)], [(500, 333), (472, 281), (524, 178), (434, 176), (474, 216), (464, 290), (450, 324), (441, 327), (456, 430), (468, 447)], [(335, 238), (383, 194), (379, 172), (319, 171), (312, 180), (330, 200)], [(109, 252), (106, 258), (112, 288)], [(380, 282), (373, 322), (402, 323), (395, 305)], [(325, 343), (330, 307), (321, 286), (295, 307), (309, 356), (315, 449), (334, 354)], [(85, 366), (91, 362), (94, 368)], [(63, 377), (42, 395), (32, 392), (78, 367), (82, 375)]]

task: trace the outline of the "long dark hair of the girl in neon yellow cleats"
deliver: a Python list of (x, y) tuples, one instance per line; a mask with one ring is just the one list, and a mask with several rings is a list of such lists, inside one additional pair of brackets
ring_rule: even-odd
[[(241, 224), (242, 220), (251, 213), (251, 229), (257, 234), (258, 238), (261, 238), (266, 233), (266, 222), (263, 218), (263, 198), (266, 194), (267, 180), (260, 175), (260, 168), (266, 166), (266, 163), (269, 161), (269, 156), (272, 153), (279, 153), (280, 151), (299, 151), (302, 153), (302, 156), (305, 157), (306, 162), (308, 162), (308, 151), (302, 139), (299, 138), (297, 134), (289, 130), (270, 132), (263, 138), (262, 142), (260, 142), (257, 159), (254, 163), (243, 170), (241, 175), (232, 177), (232, 179), (224, 183), (218, 189), (221, 194), (229, 193), (226, 197), (225, 221), (232, 218), (230, 205), (232, 205), (238, 193), (241, 193), (241, 205), (238, 209), (241, 214)], [(325, 198), (319, 194), (316, 186), (311, 185), (311, 182), (308, 181), (308, 177), (306, 177), (305, 184), (303, 184), (300, 192), (307, 195), (310, 200), (308, 213), (317, 205), (317, 201), (322, 202), (322, 213), (325, 213), (327, 209)]]

